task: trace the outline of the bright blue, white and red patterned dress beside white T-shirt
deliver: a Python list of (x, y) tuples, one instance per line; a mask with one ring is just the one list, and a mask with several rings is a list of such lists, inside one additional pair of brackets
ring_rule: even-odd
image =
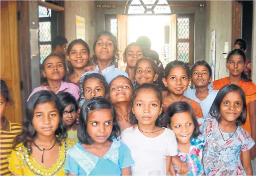
[[(180, 160), (188, 164), (189, 173), (187, 176), (202, 176), (204, 174), (202, 158), (205, 143), (205, 137), (200, 134), (197, 138), (191, 138), (191, 146), (188, 154), (178, 150)], [(174, 169), (176, 176), (178, 176), (178, 167), (176, 165), (174, 165)]]

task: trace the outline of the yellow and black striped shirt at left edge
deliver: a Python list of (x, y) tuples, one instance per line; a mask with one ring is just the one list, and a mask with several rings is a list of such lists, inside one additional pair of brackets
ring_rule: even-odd
[[(22, 127), (19, 124), (9, 122), (6, 118), (4, 121), (9, 124), (9, 129), (7, 129), (8, 131), (6, 129), (0, 130), (0, 175), (10, 176), (8, 157), (12, 151), (12, 141), (21, 132)], [(7, 127), (8, 124), (6, 124)]]

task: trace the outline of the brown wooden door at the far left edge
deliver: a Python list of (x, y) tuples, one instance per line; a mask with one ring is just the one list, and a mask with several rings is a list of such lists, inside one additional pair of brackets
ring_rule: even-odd
[(1, 4), (1, 79), (8, 86), (11, 105), (5, 111), (8, 120), (22, 122), (20, 101), (20, 72), (18, 58), (17, 1), (0, 1)]

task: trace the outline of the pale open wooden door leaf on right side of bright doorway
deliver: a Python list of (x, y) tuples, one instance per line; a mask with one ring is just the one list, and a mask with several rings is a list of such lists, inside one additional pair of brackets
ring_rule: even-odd
[(177, 14), (170, 15), (170, 59), (177, 60)]

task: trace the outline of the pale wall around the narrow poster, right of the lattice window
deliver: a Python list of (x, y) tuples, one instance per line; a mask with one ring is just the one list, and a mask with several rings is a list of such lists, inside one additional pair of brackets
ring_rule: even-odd
[(231, 21), (232, 21), (232, 1), (210, 0), (206, 2), (206, 61), (210, 64), (211, 60), (211, 31), (216, 30), (216, 61), (215, 61), (215, 80), (228, 76), (226, 71), (226, 58), (224, 53), (225, 42), (229, 42), (231, 50)]

